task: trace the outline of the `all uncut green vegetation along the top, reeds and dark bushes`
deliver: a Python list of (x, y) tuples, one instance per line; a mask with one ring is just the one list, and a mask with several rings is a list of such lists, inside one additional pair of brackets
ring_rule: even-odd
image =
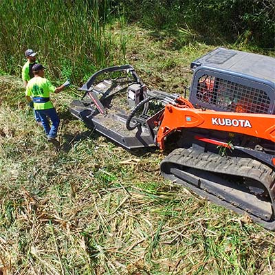
[[(127, 21), (150, 28), (152, 38), (165, 39), (171, 50), (195, 41), (272, 48), (274, 11), (272, 0), (3, 0), (0, 74), (20, 76), (23, 52), (32, 48), (48, 68), (47, 77), (81, 86), (96, 70), (126, 63)], [(161, 30), (165, 34), (159, 36)]]

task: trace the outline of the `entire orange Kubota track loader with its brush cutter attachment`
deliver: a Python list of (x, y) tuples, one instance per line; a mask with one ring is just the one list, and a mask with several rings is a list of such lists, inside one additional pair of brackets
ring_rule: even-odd
[(275, 58), (217, 48), (191, 69), (189, 99), (102, 69), (70, 111), (130, 150), (174, 142), (164, 177), (275, 230)]

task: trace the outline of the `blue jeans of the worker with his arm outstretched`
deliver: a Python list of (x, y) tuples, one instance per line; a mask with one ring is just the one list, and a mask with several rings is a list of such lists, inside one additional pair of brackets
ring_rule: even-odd
[[(48, 137), (56, 137), (58, 126), (60, 123), (60, 120), (58, 118), (58, 114), (56, 113), (56, 109), (45, 109), (45, 110), (36, 110), (41, 118), (42, 125), (44, 127), (45, 133)], [(50, 127), (50, 124), (47, 120), (47, 118), (50, 118), (52, 121), (52, 126)]]

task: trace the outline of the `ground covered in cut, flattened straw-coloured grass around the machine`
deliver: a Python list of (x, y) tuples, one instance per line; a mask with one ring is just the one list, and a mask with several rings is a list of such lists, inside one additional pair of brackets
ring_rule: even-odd
[[(126, 61), (148, 87), (182, 93), (190, 61), (213, 46), (129, 27)], [(182, 35), (182, 36), (181, 36)], [(56, 151), (36, 126), (19, 77), (0, 77), (0, 274), (274, 274), (274, 232), (165, 181), (168, 153), (133, 155), (53, 96)]]

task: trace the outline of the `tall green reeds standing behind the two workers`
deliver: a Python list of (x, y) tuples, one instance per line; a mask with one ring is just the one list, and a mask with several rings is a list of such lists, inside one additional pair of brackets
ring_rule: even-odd
[(1, 71), (20, 75), (23, 53), (32, 48), (39, 52), (38, 60), (48, 67), (48, 74), (79, 82), (96, 69), (113, 65), (113, 58), (123, 61), (121, 46), (115, 45), (111, 32), (105, 28), (114, 19), (111, 0), (3, 0)]

